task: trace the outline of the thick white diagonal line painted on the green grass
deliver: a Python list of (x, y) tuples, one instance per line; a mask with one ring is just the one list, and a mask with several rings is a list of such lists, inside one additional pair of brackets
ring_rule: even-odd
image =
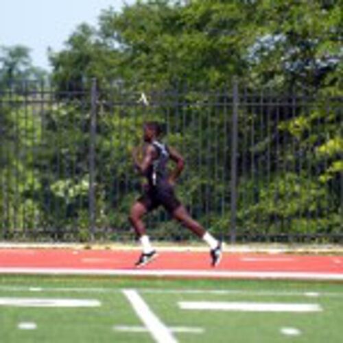
[(152, 335), (152, 338), (158, 343), (176, 343), (178, 342), (171, 331), (161, 322), (161, 320), (152, 312), (143, 298), (134, 289), (123, 289), (123, 294), (130, 301), (137, 316)]

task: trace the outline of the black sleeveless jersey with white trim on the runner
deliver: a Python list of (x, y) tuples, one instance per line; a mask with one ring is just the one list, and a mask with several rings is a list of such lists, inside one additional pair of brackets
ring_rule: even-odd
[(152, 145), (154, 145), (157, 156), (147, 170), (147, 180), (151, 187), (158, 187), (168, 182), (167, 163), (169, 161), (169, 150), (167, 145), (158, 141), (153, 141)]

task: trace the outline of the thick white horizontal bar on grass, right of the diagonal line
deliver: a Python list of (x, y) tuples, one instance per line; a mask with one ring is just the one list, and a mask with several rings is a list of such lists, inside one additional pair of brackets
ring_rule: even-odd
[(206, 311), (244, 311), (244, 312), (320, 312), (318, 304), (290, 304), (290, 303), (245, 303), (220, 301), (180, 301), (181, 309), (195, 309)]

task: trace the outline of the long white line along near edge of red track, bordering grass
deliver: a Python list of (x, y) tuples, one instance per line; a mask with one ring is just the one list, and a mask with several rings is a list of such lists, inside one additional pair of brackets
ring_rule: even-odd
[(343, 281), (343, 273), (320, 272), (227, 272), (220, 270), (102, 270), (72, 268), (0, 268), (0, 274), (157, 276), (206, 279), (271, 279)]

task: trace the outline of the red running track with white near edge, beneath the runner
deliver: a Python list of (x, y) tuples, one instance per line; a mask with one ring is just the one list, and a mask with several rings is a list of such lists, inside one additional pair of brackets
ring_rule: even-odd
[(0, 274), (92, 274), (343, 281), (343, 256), (224, 252), (211, 268), (208, 252), (161, 251), (134, 268), (138, 250), (0, 249)]

